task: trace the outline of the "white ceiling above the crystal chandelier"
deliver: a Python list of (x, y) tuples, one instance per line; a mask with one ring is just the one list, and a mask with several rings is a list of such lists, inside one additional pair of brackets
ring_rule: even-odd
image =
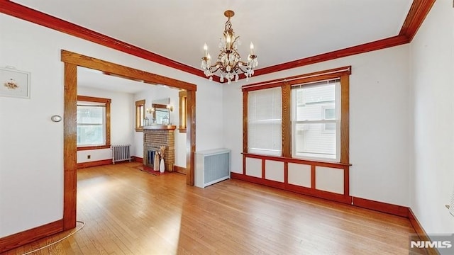
[(248, 54), (269, 67), (399, 33), (412, 0), (13, 0), (197, 69), (216, 55), (227, 9)]

